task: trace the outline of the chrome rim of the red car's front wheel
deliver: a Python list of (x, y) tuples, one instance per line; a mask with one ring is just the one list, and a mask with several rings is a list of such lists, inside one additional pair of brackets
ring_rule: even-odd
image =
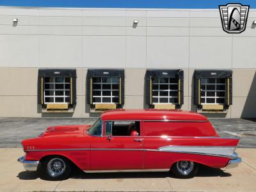
[(53, 158), (47, 163), (47, 170), (51, 177), (58, 177), (65, 172), (66, 164), (60, 158)]

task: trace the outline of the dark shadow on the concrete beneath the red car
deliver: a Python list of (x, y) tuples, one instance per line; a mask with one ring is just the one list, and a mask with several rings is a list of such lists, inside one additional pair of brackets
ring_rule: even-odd
[[(230, 177), (231, 174), (221, 169), (200, 166), (195, 177)], [(40, 176), (38, 172), (20, 172), (17, 177), (21, 180), (35, 180)], [(84, 173), (74, 169), (72, 179), (129, 179), (129, 178), (175, 178), (170, 172), (117, 172), (117, 173)]]

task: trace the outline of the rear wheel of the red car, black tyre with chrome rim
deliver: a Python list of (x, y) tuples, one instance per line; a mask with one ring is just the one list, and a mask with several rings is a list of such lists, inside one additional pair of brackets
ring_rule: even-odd
[(199, 165), (193, 161), (178, 161), (173, 164), (171, 171), (178, 178), (188, 179), (198, 172)]

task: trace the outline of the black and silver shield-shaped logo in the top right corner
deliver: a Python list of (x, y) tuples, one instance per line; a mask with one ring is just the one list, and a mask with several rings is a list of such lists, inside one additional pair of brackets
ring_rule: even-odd
[(227, 33), (242, 33), (246, 28), (249, 5), (233, 4), (220, 5), (222, 28)]

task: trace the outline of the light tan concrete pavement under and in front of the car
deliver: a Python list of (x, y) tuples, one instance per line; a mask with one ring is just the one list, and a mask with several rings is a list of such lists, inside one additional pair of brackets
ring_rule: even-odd
[(230, 170), (203, 167), (193, 179), (169, 173), (83, 173), (63, 181), (46, 181), (25, 172), (17, 157), (22, 148), (0, 148), (0, 191), (256, 191), (256, 149), (237, 148), (243, 163)]

